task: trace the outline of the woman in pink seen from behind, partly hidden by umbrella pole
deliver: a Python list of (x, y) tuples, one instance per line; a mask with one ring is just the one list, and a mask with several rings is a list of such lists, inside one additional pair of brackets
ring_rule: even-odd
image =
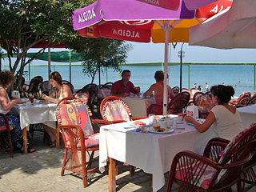
[[(164, 80), (164, 74), (162, 70), (158, 70), (154, 74), (154, 79), (156, 83), (154, 83), (152, 86), (150, 86), (150, 89), (146, 90), (146, 92), (143, 94), (144, 97), (150, 96), (155, 98), (155, 101), (157, 104), (162, 105), (163, 102), (163, 80)], [(154, 94), (153, 94), (154, 91)], [(167, 93), (168, 98), (174, 98), (174, 92), (170, 88), (170, 86), (167, 86)]]

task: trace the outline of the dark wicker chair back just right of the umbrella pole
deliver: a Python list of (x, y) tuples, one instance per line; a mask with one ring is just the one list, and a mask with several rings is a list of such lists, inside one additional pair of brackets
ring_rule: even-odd
[(182, 109), (185, 108), (190, 102), (190, 93), (183, 91), (176, 94), (173, 99), (170, 100), (167, 110), (168, 114), (181, 114)]

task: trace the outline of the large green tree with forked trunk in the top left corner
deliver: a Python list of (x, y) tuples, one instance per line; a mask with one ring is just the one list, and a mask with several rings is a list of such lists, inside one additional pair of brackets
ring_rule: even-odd
[[(0, 43), (6, 50), (10, 71), (22, 78), (24, 67), (54, 44), (78, 38), (71, 13), (89, 1), (70, 0), (2, 0), (0, 4)], [(26, 60), (30, 48), (42, 43), (42, 49)], [(11, 56), (17, 54), (12, 63)], [(18, 68), (20, 64), (20, 68)]]

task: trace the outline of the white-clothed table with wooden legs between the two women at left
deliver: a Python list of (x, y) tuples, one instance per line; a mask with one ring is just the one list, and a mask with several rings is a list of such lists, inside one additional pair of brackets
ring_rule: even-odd
[[(23, 132), (23, 146), (24, 153), (27, 153), (27, 134), (26, 131), (30, 129), (30, 124), (37, 124), (43, 122), (57, 122), (55, 116), (57, 104), (39, 102), (34, 103), (26, 102), (22, 104), (16, 104), (10, 110), (10, 113), (16, 114), (20, 118), (20, 126)], [(56, 124), (56, 146), (59, 148), (59, 127)]]

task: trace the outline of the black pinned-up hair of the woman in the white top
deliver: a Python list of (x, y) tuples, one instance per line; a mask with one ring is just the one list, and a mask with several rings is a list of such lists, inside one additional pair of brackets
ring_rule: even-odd
[(210, 93), (218, 97), (218, 104), (230, 102), (232, 96), (234, 96), (234, 88), (232, 86), (212, 86), (210, 87)]

